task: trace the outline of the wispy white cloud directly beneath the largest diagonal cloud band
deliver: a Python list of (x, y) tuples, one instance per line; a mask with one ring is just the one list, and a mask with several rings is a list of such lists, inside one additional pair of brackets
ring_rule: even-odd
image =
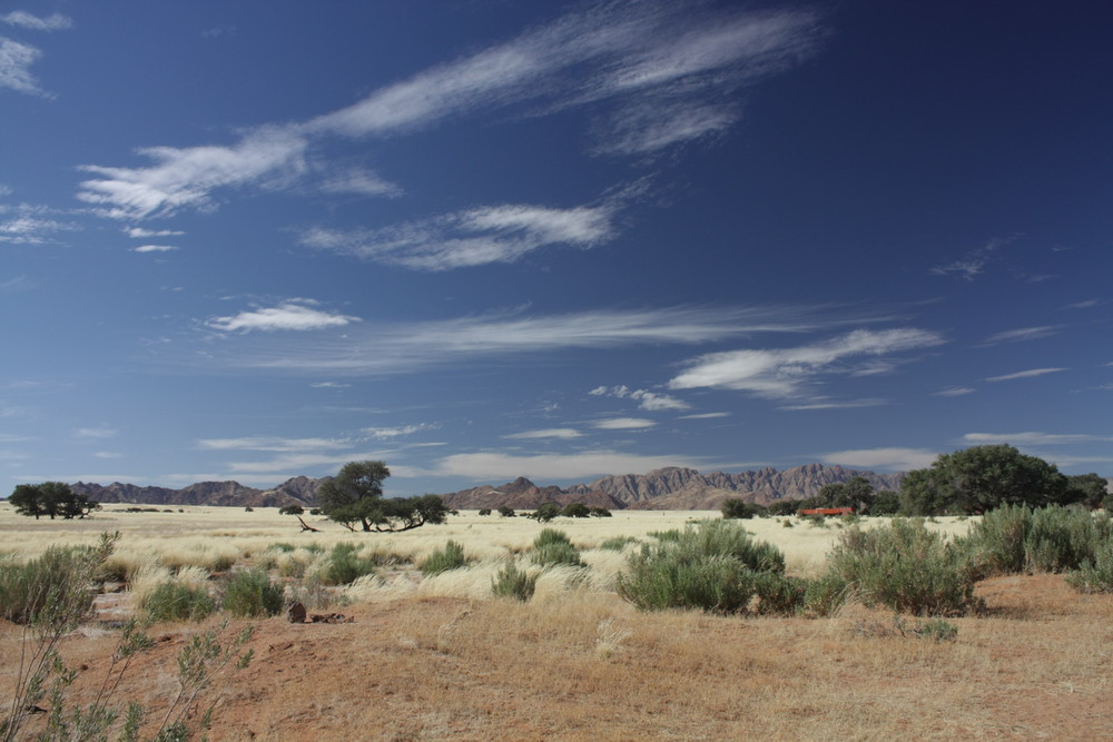
[(588, 248), (614, 233), (611, 206), (556, 209), (502, 205), (382, 229), (303, 233), (307, 247), (418, 270), (513, 263), (554, 245)]

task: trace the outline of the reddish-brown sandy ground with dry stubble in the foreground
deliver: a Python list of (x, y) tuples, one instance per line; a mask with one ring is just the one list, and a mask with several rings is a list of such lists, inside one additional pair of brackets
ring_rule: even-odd
[[(209, 736), (1113, 739), (1113, 596), (1055, 575), (988, 581), (981, 594), (988, 614), (952, 620), (958, 637), (942, 643), (860, 606), (745, 620), (642, 614), (608, 595), (353, 605), (337, 610), (354, 622), (333, 625), (272, 619), (257, 622), (250, 665), (211, 689)], [(198, 630), (157, 626), (119, 698), (158, 715)], [(0, 698), (19, 636), (0, 624)], [(82, 667), (76, 699), (104, 676), (115, 639), (93, 624), (65, 641)]]

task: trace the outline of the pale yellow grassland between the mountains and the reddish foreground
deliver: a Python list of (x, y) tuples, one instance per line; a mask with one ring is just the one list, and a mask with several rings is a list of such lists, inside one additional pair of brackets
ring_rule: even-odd
[[(462, 544), (471, 561), (467, 567), (422, 578), (412, 568), (381, 568), (357, 580), (343, 591), (349, 601), (375, 601), (405, 596), (451, 596), (481, 598), (491, 593), (495, 573), (508, 560), (538, 576), (535, 601), (544, 602), (570, 592), (612, 592), (630, 550), (600, 548), (608, 540), (628, 537), (647, 541), (650, 534), (719, 517), (713, 511), (614, 511), (604, 518), (556, 518), (540, 524), (525, 517), (480, 516), (465, 511), (450, 516), (443, 525), (430, 525), (405, 533), (353, 533), (322, 517), (305, 516), (321, 533), (301, 531), (297, 520), (279, 515), (276, 508), (247, 512), (236, 507), (167, 507), (159, 512), (127, 513), (125, 505), (106, 505), (92, 517), (79, 521), (49, 521), (16, 515), (0, 506), (0, 552), (24, 560), (51, 544), (91, 544), (105, 531), (120, 531), (122, 537), (110, 557), (109, 568), (139, 591), (152, 588), (171, 573), (187, 572), (196, 578), (204, 571), (224, 572), (234, 565), (259, 565), (279, 577), (313, 577), (324, 565), (327, 551), (346, 542), (359, 547), (361, 556), (393, 556), (417, 564), (450, 538)], [(170, 511), (170, 512), (165, 512)], [(789, 522), (792, 527), (786, 527)], [(885, 523), (866, 520), (865, 527)], [(776, 544), (786, 556), (788, 571), (815, 575), (823, 570), (826, 554), (846, 527), (840, 521), (818, 527), (796, 517), (740, 521), (760, 541)], [(939, 518), (929, 527), (948, 535), (965, 533), (968, 521)], [(565, 532), (582, 551), (590, 568), (546, 568), (531, 565), (524, 555), (545, 527)], [(279, 548), (285, 545), (286, 548)], [(195, 572), (190, 573), (189, 570)], [(179, 580), (183, 578), (179, 576)]]

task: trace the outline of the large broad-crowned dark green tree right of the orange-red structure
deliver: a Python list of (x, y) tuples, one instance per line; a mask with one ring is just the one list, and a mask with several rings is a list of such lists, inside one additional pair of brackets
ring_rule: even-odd
[(1005, 504), (1038, 507), (1062, 502), (1066, 484), (1054, 464), (1013, 446), (973, 446), (909, 472), (900, 485), (900, 509), (942, 515), (984, 513)]

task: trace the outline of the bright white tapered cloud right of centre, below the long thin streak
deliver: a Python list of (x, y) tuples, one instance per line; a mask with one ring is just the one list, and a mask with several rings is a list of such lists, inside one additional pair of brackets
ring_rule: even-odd
[[(824, 376), (854, 374), (855, 358), (929, 348), (946, 343), (938, 333), (916, 328), (859, 329), (824, 343), (795, 348), (712, 353), (688, 362), (669, 382), (673, 389), (721, 388), (768, 398), (805, 395)], [(823, 400), (819, 400), (823, 402)]]

